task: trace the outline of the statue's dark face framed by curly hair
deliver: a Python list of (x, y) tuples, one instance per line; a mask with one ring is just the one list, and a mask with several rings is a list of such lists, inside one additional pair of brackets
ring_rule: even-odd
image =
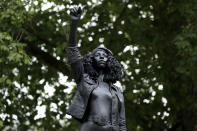
[(108, 60), (108, 55), (104, 50), (98, 50), (94, 53), (94, 59), (98, 67), (105, 68)]

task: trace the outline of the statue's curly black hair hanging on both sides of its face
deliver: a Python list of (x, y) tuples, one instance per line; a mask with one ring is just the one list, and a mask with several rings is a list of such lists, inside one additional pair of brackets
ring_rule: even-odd
[[(96, 67), (96, 62), (93, 54), (87, 54), (83, 57), (84, 72), (89, 74), (93, 80), (97, 80), (98, 68)], [(103, 81), (109, 83), (115, 83), (122, 77), (122, 69), (120, 63), (112, 56), (108, 55), (107, 66), (104, 69)]]

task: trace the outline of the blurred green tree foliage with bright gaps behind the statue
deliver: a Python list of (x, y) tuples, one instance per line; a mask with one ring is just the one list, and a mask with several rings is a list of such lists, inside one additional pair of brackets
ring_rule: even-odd
[(120, 61), (128, 131), (197, 131), (196, 0), (1, 0), (0, 130), (77, 131), (67, 65), (69, 10), (82, 55)]

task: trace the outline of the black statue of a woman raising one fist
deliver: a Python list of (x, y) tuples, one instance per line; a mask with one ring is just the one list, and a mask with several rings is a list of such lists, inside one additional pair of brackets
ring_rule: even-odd
[(67, 114), (82, 123), (79, 131), (126, 131), (124, 97), (113, 85), (122, 76), (121, 66), (105, 47), (80, 55), (76, 29), (81, 13), (80, 7), (70, 13), (68, 63), (78, 89)]

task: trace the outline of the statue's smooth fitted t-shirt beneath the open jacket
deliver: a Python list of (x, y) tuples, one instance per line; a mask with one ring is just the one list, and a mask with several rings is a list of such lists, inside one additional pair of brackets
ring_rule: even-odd
[(103, 76), (98, 79), (98, 82), (98, 87), (92, 91), (90, 96), (88, 117), (104, 119), (111, 124), (113, 119), (117, 121), (113, 112), (118, 112), (118, 98), (109, 84), (103, 81)]

